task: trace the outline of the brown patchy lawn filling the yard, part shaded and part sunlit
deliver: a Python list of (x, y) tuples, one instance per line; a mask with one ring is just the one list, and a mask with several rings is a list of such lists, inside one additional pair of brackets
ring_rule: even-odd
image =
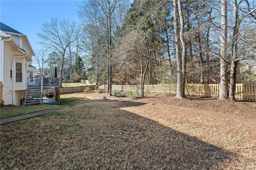
[(104, 96), (1, 125), (1, 169), (256, 169), (255, 102)]

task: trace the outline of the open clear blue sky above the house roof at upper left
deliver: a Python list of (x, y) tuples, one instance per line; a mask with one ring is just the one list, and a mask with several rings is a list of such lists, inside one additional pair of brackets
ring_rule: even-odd
[(36, 33), (40, 32), (42, 24), (50, 22), (51, 18), (80, 24), (77, 11), (81, 4), (81, 0), (0, 0), (0, 21), (25, 34), (32, 48), (39, 50), (42, 47), (36, 43)]

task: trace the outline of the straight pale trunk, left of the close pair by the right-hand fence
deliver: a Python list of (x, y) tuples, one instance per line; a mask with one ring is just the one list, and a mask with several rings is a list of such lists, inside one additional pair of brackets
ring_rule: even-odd
[(221, 38), (220, 38), (220, 100), (228, 97), (228, 77), (227, 77), (227, 0), (221, 0)]

